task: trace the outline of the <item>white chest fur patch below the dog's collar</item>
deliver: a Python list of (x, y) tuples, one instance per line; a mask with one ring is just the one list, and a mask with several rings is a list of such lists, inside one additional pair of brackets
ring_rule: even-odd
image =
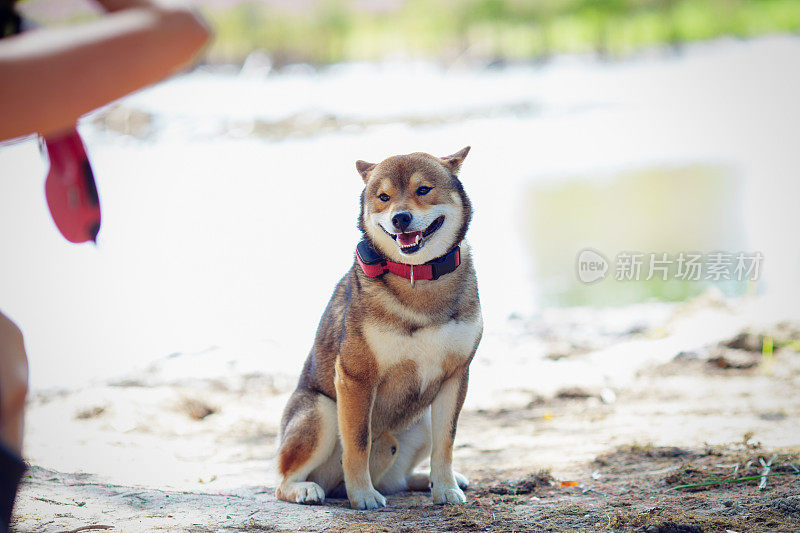
[(483, 319), (479, 314), (473, 320), (451, 320), (437, 326), (421, 327), (413, 333), (368, 321), (363, 326), (363, 332), (381, 375), (399, 363), (414, 361), (419, 373), (420, 389), (424, 390), (441, 375), (442, 363), (447, 356), (466, 359), (472, 355), (482, 327)]

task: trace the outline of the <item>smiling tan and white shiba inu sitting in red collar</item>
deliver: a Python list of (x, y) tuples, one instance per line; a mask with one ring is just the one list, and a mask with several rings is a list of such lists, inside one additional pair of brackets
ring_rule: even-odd
[[(384, 494), (430, 487), (434, 503), (466, 501), (453, 440), (483, 333), (457, 177), (468, 152), (356, 162), (363, 240), (283, 413), (278, 498), (345, 492), (375, 509)], [(414, 472), (428, 456), (430, 473)]]

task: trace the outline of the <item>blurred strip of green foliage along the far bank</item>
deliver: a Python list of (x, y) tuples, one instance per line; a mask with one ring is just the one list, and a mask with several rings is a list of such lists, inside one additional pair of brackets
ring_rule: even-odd
[[(214, 4), (219, 5), (219, 4)], [(278, 63), (330, 63), (390, 54), (528, 59), (559, 52), (620, 55), (656, 44), (800, 30), (794, 0), (356, 0), (300, 6), (247, 1), (207, 7), (211, 60), (255, 49)]]

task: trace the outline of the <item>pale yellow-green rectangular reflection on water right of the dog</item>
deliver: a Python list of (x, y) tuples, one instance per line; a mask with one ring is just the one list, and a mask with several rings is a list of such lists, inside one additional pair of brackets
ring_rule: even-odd
[[(757, 251), (747, 250), (739, 178), (724, 166), (660, 165), (533, 184), (526, 220), (542, 304), (676, 301), (712, 286), (728, 296), (752, 293), (761, 261), (753, 259)], [(576, 250), (587, 248), (609, 263), (595, 284), (565, 268), (575, 262)], [(719, 251), (726, 255), (715, 280), (711, 263)], [(641, 264), (633, 279), (618, 254), (637, 255)], [(736, 272), (739, 254), (742, 270)], [(684, 266), (678, 265), (681, 256)], [(700, 258), (697, 273), (685, 267), (690, 256)]]

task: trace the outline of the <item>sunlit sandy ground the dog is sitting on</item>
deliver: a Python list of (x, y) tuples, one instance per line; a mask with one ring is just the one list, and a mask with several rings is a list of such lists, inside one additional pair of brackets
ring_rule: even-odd
[[(472, 485), (458, 507), (434, 506), (426, 493), (392, 495), (374, 512), (277, 501), (277, 428), (294, 376), (193, 377), (213, 351), (41, 392), (30, 401), (31, 468), (13, 527), (798, 530), (800, 322), (763, 310), (707, 295), (509, 319), (473, 366), (455, 452)], [(765, 337), (772, 356), (762, 354)], [(770, 459), (783, 474), (763, 490), (756, 480), (667, 491), (761, 474)]]

